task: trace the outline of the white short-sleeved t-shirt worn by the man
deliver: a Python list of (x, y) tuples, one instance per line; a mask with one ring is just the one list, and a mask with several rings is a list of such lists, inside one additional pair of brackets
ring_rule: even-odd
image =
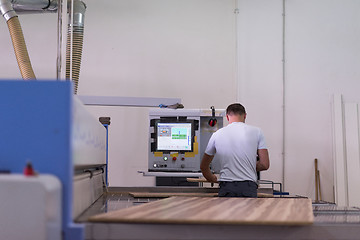
[(233, 122), (213, 133), (205, 153), (220, 160), (219, 181), (256, 182), (256, 157), (258, 149), (266, 149), (260, 128), (243, 122)]

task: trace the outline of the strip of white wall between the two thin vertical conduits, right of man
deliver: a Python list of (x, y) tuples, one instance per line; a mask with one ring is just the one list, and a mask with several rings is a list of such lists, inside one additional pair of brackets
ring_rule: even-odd
[(271, 167), (261, 178), (282, 182), (282, 1), (238, 3), (239, 101), (264, 131)]

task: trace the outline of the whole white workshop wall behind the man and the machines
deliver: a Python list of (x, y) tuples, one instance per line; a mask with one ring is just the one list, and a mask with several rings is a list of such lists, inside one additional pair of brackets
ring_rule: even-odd
[[(313, 197), (318, 158), (323, 198), (333, 200), (331, 96), (342, 93), (346, 102), (360, 101), (359, 1), (286, 0), (284, 39), (282, 0), (86, 4), (79, 95), (175, 97), (187, 108), (225, 108), (238, 99), (247, 108), (248, 123), (260, 126), (267, 139), (271, 169), (263, 178), (280, 182), (284, 177), (287, 191)], [(56, 76), (56, 18), (20, 16), (40, 79)], [(1, 78), (20, 78), (4, 21), (0, 33)], [(153, 179), (136, 172), (147, 168), (147, 109), (89, 110), (112, 118), (110, 184), (153, 185)]]

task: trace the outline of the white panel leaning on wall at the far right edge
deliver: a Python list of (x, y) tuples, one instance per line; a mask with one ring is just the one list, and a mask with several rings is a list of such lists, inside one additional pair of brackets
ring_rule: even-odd
[(360, 161), (358, 105), (345, 103), (346, 167), (349, 206), (360, 207)]

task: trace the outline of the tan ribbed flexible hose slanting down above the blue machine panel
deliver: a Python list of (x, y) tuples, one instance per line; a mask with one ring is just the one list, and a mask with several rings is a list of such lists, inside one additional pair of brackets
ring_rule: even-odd
[(36, 79), (18, 17), (10, 18), (7, 24), (22, 78), (24, 80)]

